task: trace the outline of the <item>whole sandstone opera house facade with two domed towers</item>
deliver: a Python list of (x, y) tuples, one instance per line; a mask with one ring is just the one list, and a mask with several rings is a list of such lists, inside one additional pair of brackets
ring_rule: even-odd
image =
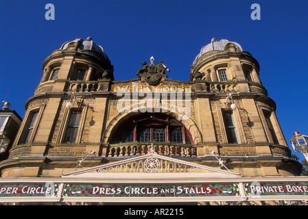
[[(223, 49), (215, 49), (218, 43)], [(221, 168), (214, 152), (245, 177), (299, 175), (301, 165), (291, 158), (257, 60), (235, 42), (211, 44), (193, 62), (189, 81), (168, 79), (167, 67), (153, 60), (143, 62), (138, 79), (115, 81), (110, 60), (91, 38), (65, 42), (43, 63), (43, 77), (25, 104), (10, 155), (0, 163), (1, 176), (60, 177), (86, 155), (92, 159), (79, 168), (145, 155), (152, 144), (160, 155)], [(184, 97), (175, 102), (171, 96), (178, 93), (189, 95), (189, 102)], [(130, 106), (124, 109), (120, 101), (126, 94)], [(228, 94), (235, 109), (226, 103)], [(145, 96), (151, 107), (144, 105)], [(74, 125), (73, 112), (79, 116)], [(145, 142), (141, 127), (151, 130)], [(164, 140), (153, 133), (158, 127)], [(124, 133), (130, 138), (123, 140)]]

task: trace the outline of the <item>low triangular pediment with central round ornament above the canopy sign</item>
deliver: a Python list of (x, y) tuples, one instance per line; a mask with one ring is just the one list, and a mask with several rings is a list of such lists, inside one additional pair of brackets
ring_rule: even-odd
[[(171, 175), (172, 174), (172, 175)], [(157, 155), (153, 151), (147, 155), (123, 159), (117, 162), (102, 164), (93, 168), (78, 170), (62, 175), (62, 177), (240, 177), (230, 170), (212, 168), (202, 164), (187, 162), (165, 155)]]

